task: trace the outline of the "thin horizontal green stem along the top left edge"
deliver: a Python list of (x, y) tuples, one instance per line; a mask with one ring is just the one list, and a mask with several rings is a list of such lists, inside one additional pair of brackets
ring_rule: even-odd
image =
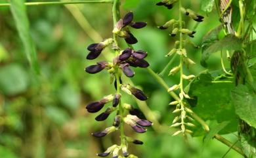
[[(113, 0), (89, 0), (89, 1), (52, 1), (52, 2), (27, 2), (28, 6), (33, 5), (68, 5), (68, 4), (83, 4), (83, 3), (112, 3)], [(10, 7), (10, 3), (0, 3), (0, 7)]]

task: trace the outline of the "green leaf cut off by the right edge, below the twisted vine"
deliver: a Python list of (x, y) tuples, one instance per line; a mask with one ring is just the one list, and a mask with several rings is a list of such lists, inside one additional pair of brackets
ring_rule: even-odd
[(256, 94), (245, 85), (238, 85), (232, 90), (232, 100), (236, 109), (236, 114), (256, 128)]

